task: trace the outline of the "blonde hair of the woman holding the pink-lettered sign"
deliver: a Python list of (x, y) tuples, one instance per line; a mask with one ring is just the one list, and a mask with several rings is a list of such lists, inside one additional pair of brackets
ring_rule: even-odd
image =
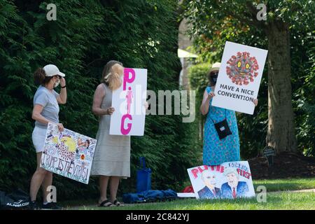
[(117, 61), (110, 61), (104, 67), (102, 81), (106, 83), (111, 90), (117, 90), (123, 83), (121, 80), (123, 73), (123, 64)]

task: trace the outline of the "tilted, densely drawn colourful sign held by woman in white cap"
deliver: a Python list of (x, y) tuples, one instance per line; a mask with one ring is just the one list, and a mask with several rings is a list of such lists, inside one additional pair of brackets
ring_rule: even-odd
[(71, 130), (59, 132), (48, 123), (41, 167), (81, 183), (89, 183), (96, 139)]

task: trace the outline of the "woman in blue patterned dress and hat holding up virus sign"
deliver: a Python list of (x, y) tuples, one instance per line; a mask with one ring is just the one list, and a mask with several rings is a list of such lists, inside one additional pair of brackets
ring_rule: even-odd
[[(214, 88), (216, 87), (216, 79), (218, 78), (218, 70), (221, 63), (213, 64), (209, 71), (209, 86), (204, 90), (204, 98), (200, 111), (203, 115), (207, 115), (204, 125), (204, 165), (221, 165), (223, 162), (239, 161), (239, 131), (237, 129), (237, 118), (235, 111), (211, 106), (214, 97)], [(253, 104), (257, 106), (258, 100), (254, 99)], [(220, 139), (215, 123), (219, 123), (224, 119), (227, 120), (228, 126), (232, 134)]]

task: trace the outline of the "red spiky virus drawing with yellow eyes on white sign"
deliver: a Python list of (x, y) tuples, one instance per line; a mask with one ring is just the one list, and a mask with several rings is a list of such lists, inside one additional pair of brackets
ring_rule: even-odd
[(227, 62), (226, 73), (236, 85), (248, 85), (258, 76), (258, 63), (249, 52), (237, 52)]

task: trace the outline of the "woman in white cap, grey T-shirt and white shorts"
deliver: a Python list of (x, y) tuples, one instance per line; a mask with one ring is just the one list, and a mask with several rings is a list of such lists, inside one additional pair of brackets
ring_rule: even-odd
[[(32, 140), (36, 149), (37, 168), (31, 178), (30, 188), (30, 208), (38, 209), (36, 195), (39, 188), (43, 187), (43, 206), (42, 209), (59, 209), (54, 202), (47, 202), (48, 186), (52, 185), (52, 173), (40, 167), (41, 153), (45, 143), (45, 133), (48, 123), (58, 125), (59, 131), (63, 131), (62, 123), (59, 123), (59, 105), (66, 104), (66, 80), (64, 73), (60, 72), (57, 66), (48, 64), (43, 68), (37, 69), (34, 73), (35, 83), (40, 85), (34, 95), (34, 109), (31, 118), (35, 120), (35, 127)], [(54, 88), (61, 85), (58, 94)]]

